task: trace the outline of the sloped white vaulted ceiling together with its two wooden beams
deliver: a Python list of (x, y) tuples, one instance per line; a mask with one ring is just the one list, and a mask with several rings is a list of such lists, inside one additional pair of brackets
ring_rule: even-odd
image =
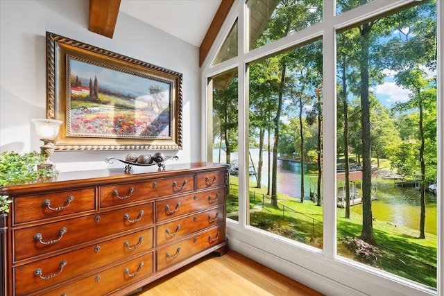
[(199, 66), (234, 0), (89, 0), (89, 31), (112, 38), (119, 11), (199, 46)]

